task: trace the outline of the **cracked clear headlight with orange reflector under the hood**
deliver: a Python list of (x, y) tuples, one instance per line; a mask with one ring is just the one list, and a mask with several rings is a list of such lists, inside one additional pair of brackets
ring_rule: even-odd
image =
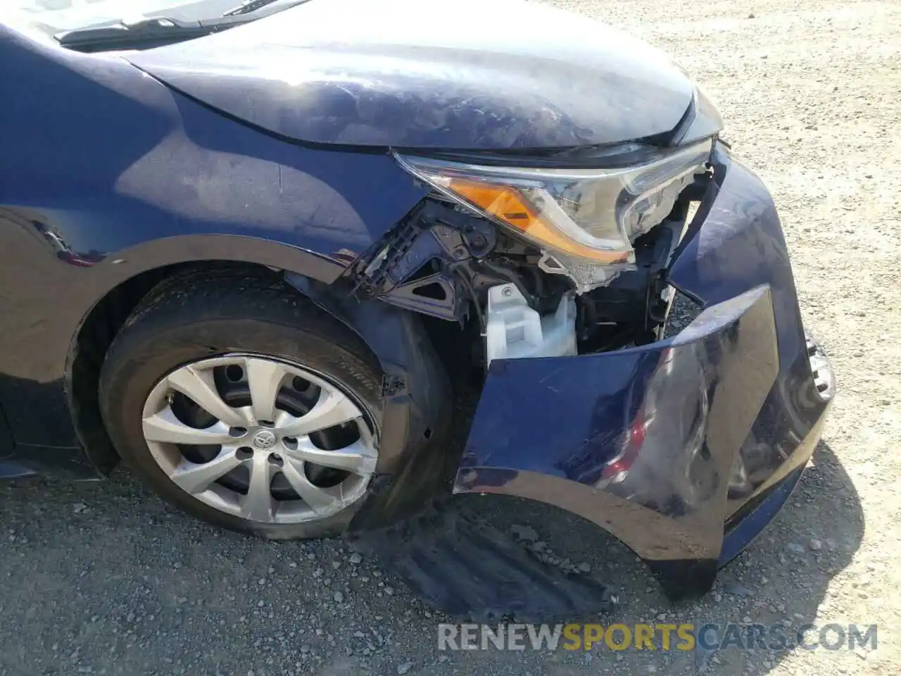
[(542, 268), (580, 291), (635, 262), (632, 242), (669, 215), (704, 169), (713, 141), (610, 169), (511, 169), (398, 156), (405, 169), (460, 204), (523, 235), (544, 252)]

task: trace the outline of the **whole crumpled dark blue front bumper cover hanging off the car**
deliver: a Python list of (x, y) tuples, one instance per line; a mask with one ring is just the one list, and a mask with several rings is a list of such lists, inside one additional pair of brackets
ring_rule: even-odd
[(709, 589), (775, 516), (834, 392), (769, 191), (722, 145), (713, 164), (669, 269), (704, 311), (638, 348), (492, 362), (454, 482), (586, 517), (674, 598)]

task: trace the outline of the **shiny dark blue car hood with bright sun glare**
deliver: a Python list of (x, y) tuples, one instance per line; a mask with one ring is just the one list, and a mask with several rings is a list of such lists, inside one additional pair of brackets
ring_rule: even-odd
[(630, 141), (676, 127), (694, 91), (660, 50), (521, 0), (311, 0), (124, 56), (269, 132), (354, 146)]

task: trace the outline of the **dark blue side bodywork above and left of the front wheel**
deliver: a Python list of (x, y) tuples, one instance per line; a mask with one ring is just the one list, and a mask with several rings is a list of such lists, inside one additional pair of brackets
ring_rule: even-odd
[(291, 145), (119, 57), (0, 25), (0, 62), (15, 65), (0, 78), (14, 102), (0, 106), (0, 288), (15, 290), (0, 297), (0, 402), (30, 466), (40, 447), (80, 456), (64, 375), (108, 291), (189, 260), (332, 282), (423, 196), (387, 153)]

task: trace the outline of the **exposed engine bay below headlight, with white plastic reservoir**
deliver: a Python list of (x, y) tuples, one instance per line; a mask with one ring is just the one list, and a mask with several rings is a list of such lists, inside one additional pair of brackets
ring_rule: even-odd
[[(710, 170), (669, 215), (634, 239), (633, 263), (611, 264), (593, 288), (548, 251), (434, 193), (354, 270), (356, 295), (457, 322), (473, 361), (587, 354), (659, 340), (673, 289), (667, 267), (690, 227)], [(600, 264), (599, 264), (600, 265)]]

